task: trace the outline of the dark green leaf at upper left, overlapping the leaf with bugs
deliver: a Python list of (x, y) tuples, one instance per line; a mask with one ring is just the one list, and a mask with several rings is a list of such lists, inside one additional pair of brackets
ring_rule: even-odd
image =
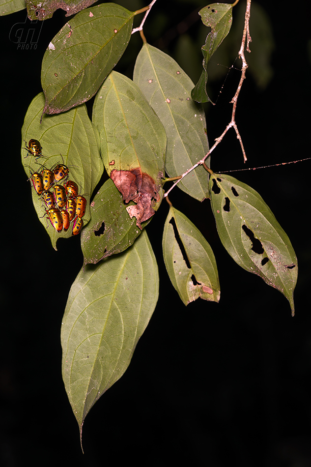
[(120, 5), (102, 3), (65, 24), (42, 60), (44, 112), (64, 112), (97, 92), (127, 47), (133, 17)]

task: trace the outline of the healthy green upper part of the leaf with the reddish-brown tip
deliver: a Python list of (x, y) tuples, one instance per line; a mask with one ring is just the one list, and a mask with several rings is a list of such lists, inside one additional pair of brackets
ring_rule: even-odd
[(166, 133), (132, 80), (113, 71), (96, 95), (93, 122), (101, 135), (108, 175), (112, 170), (141, 168), (159, 182), (164, 175)]

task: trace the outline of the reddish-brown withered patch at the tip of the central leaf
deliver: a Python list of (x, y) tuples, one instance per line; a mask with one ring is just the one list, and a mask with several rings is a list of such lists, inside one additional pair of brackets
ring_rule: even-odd
[(113, 170), (110, 177), (126, 204), (130, 201), (137, 203), (136, 206), (128, 206), (126, 210), (131, 219), (136, 217), (136, 225), (141, 229), (141, 222), (149, 219), (155, 212), (151, 207), (152, 200), (160, 201), (155, 181), (150, 175), (141, 172), (140, 168)]

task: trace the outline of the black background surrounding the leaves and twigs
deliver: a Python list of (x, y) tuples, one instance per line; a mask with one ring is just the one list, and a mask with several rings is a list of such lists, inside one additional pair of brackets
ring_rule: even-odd
[[(134, 0), (120, 3), (132, 10), (144, 6)], [(246, 2), (240, 3), (243, 15)], [(268, 34), (260, 35), (259, 28), (256, 36), (258, 21), (252, 17), (252, 59), (261, 61), (257, 71), (254, 65), (247, 73), (236, 114), (248, 163), (243, 164), (231, 130), (213, 152), (214, 171), (311, 155), (310, 2), (290, 8), (281, 2), (253, 2), (256, 12), (258, 5), (268, 18), (260, 16), (259, 26)], [(194, 81), (208, 31), (200, 21), (193, 23), (192, 13), (202, 6), (199, 0), (159, 0), (144, 28), (148, 42), (178, 60)], [(238, 7), (235, 14), (238, 18)], [(227, 255), (209, 201), (200, 204), (176, 189), (170, 199), (210, 242), (221, 282), (219, 304), (198, 300), (186, 308), (161, 256), (168, 212), (163, 203), (147, 229), (159, 262), (159, 302), (128, 370), (87, 415), (82, 454), (61, 379), (59, 338), (69, 289), (82, 266), (80, 238), (61, 239), (58, 251), (53, 250), (33, 209), (20, 155), (24, 116), (41, 91), (41, 60), (68, 20), (64, 15), (58, 10), (43, 24), (36, 50), (21, 50), (11, 40), (11, 28), (25, 23), (26, 10), (0, 18), (1, 466), (309, 467), (311, 161), (230, 174), (261, 194), (291, 239), (299, 263), (294, 318), (280, 292)], [(209, 90), (217, 104), (206, 107), (210, 145), (230, 120), (229, 101), (240, 75), (235, 69), (228, 74), (226, 67), (234, 63), (241, 35), (242, 29), (229, 35), (223, 55), (212, 58)], [(116, 69), (131, 77), (140, 47), (137, 33)], [(256, 60), (260, 52), (263, 58), (257, 55)]]

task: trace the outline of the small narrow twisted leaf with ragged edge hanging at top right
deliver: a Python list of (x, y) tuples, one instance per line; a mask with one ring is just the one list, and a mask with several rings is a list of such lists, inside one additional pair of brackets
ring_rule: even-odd
[(203, 71), (198, 83), (191, 92), (191, 96), (198, 102), (212, 103), (206, 91), (206, 68), (210, 58), (230, 31), (232, 25), (232, 4), (211, 3), (208, 6), (204, 6), (198, 13), (201, 16), (202, 23), (205, 26), (209, 26), (212, 30), (207, 35), (205, 44), (201, 47)]

